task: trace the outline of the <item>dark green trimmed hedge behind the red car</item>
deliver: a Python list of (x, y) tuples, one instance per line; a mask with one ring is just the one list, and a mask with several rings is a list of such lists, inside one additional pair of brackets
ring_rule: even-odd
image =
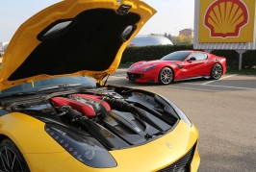
[[(158, 60), (174, 51), (192, 49), (192, 45), (128, 47), (123, 53), (121, 63)], [(225, 57), (227, 59), (227, 66), (238, 67), (239, 65), (239, 54), (235, 50), (214, 50), (212, 53), (217, 56)], [(256, 66), (256, 50), (249, 50), (243, 54), (243, 67), (244, 66)]]

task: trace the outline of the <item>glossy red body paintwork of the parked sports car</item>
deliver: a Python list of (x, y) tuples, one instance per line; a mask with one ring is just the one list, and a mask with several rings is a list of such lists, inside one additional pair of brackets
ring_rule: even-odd
[[(215, 63), (221, 64), (223, 67), (222, 75), (226, 72), (226, 59), (218, 57), (210, 53), (206, 53), (208, 58), (200, 61), (187, 61), (193, 53), (200, 51), (191, 51), (191, 54), (184, 61), (139, 61), (129, 67), (127, 72), (134, 74), (142, 74), (143, 77), (136, 79), (137, 83), (159, 83), (158, 75), (162, 68), (170, 67), (174, 72), (174, 81), (184, 80), (194, 77), (210, 77), (211, 69)], [(176, 64), (182, 66), (180, 69)], [(152, 64), (157, 64), (155, 67), (148, 71), (144, 71), (144, 68)], [(129, 77), (127, 76), (127, 79)]]

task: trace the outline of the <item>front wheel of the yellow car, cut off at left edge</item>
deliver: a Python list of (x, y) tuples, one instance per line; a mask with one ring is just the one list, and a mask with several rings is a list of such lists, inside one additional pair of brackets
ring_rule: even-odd
[(29, 172), (29, 167), (11, 139), (5, 138), (0, 143), (0, 171)]

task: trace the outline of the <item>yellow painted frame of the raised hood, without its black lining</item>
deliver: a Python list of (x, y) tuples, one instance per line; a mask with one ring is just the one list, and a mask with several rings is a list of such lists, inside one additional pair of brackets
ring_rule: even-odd
[[(138, 34), (144, 23), (156, 12), (153, 8), (139, 0), (124, 0), (121, 4), (132, 5), (130, 12), (140, 13), (141, 20), (137, 23), (137, 30), (132, 37), (121, 45), (111, 67), (101, 72), (79, 71), (77, 73), (63, 76), (90, 76), (100, 82), (107, 74), (112, 74), (115, 72), (119, 65), (121, 55), (130, 40)], [(32, 16), (16, 31), (4, 54), (2, 70), (0, 72), (0, 90), (22, 83), (30, 83), (35, 80), (62, 76), (49, 76), (41, 74), (17, 81), (8, 81), (8, 78), (13, 74), (13, 72), (21, 65), (23, 61), (26, 60), (26, 58), (40, 43), (40, 41), (37, 39), (38, 34), (51, 23), (58, 19), (73, 18), (78, 13), (90, 9), (103, 8), (113, 9), (116, 11), (119, 7), (120, 4), (117, 3), (116, 0), (64, 0)]]

